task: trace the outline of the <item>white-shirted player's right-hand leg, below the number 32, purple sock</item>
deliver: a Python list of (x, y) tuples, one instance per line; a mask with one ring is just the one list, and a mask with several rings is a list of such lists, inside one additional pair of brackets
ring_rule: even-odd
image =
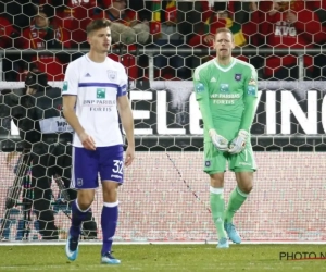
[(103, 181), (103, 208), (101, 214), (101, 226), (103, 232), (103, 246), (101, 250), (101, 263), (120, 264), (121, 261), (112, 256), (112, 243), (118, 218), (117, 187), (118, 183)]

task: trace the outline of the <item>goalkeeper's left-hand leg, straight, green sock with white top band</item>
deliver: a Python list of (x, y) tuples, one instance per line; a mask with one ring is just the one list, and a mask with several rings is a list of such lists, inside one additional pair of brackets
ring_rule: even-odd
[(211, 174), (210, 203), (212, 218), (216, 227), (217, 248), (228, 248), (228, 239), (224, 230), (224, 173)]

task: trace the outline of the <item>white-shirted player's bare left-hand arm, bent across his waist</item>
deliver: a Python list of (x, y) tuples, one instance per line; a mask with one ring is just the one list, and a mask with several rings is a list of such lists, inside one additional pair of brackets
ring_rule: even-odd
[(75, 113), (76, 96), (63, 96), (63, 114), (66, 122), (77, 133), (84, 148), (88, 150), (96, 150), (96, 144), (91, 136), (89, 136), (84, 127), (80, 125), (79, 120)]

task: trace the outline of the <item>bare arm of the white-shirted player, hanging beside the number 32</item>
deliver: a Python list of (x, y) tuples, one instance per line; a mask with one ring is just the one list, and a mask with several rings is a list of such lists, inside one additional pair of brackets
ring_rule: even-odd
[(117, 110), (122, 125), (126, 132), (128, 148), (126, 150), (125, 165), (129, 166), (135, 158), (134, 116), (127, 96), (117, 98)]

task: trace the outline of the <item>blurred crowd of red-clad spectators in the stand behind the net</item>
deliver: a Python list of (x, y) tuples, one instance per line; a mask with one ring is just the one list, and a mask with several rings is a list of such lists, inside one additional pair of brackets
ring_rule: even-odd
[[(151, 62), (139, 49), (156, 49), (151, 50), (154, 79), (191, 79), (195, 67), (214, 58), (208, 50), (191, 49), (212, 49), (218, 27), (234, 33), (237, 48), (285, 49), (277, 54), (235, 55), (253, 64), (260, 79), (298, 79), (298, 55), (286, 49), (323, 49), (326, 42), (326, 0), (3, 0), (0, 50), (18, 49), (2, 52), (3, 79), (24, 81), (27, 71), (37, 67), (49, 81), (62, 81), (67, 63), (88, 48), (87, 24), (100, 17), (114, 23), (109, 57), (124, 64), (130, 79), (149, 78)], [(23, 54), (20, 49), (55, 53)], [(326, 79), (325, 54), (304, 54), (303, 65), (304, 79)]]

